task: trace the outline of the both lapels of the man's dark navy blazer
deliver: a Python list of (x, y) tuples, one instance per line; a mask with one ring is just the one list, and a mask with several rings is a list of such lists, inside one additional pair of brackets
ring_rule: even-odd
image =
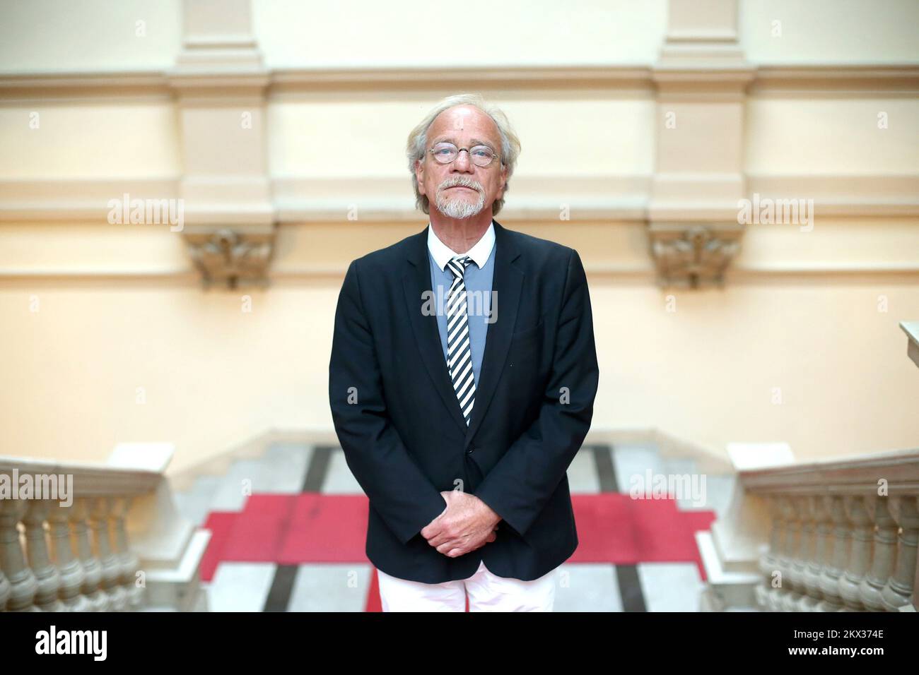
[(485, 353), (482, 355), (479, 381), (476, 382), (475, 404), (472, 406), (469, 427), (466, 426), (466, 420), (459, 408), (459, 400), (453, 390), (447, 362), (444, 360), (443, 348), (440, 345), (440, 332), (437, 328), (437, 314), (425, 315), (422, 312), (425, 298), (437, 299), (432, 295), (431, 288), (427, 227), (424, 231), (414, 235), (406, 253), (409, 265), (403, 275), (403, 290), (415, 343), (421, 355), (421, 361), (434, 382), (437, 394), (450, 411), (450, 417), (461, 430), (466, 432), (464, 450), (482, 423), (488, 404), (494, 396), (494, 388), (497, 386), (507, 358), (507, 350), (510, 348), (511, 333), (514, 329), (517, 306), (520, 301), (520, 289), (523, 287), (524, 274), (512, 265), (520, 253), (497, 220), (494, 220), (494, 246), (492, 290), (498, 301), (496, 307), (492, 308), (495, 321), (488, 325), (486, 331)]

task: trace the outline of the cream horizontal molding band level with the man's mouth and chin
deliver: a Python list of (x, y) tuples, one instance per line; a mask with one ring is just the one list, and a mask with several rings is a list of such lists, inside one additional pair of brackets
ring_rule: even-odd
[[(220, 182), (218, 181), (218, 184)], [(228, 186), (233, 189), (233, 182)], [(257, 205), (214, 199), (186, 209), (192, 222), (284, 223), (347, 220), (357, 206), (364, 220), (408, 221), (418, 217), (409, 176), (377, 179), (301, 178), (269, 179), (264, 186), (272, 201)], [(0, 222), (105, 222), (108, 200), (130, 198), (176, 199), (181, 177), (98, 180), (0, 180)], [(746, 176), (746, 194), (761, 198), (812, 198), (821, 217), (919, 216), (919, 175), (767, 175)], [(550, 194), (550, 197), (544, 197)], [(653, 204), (652, 176), (608, 175), (515, 176), (502, 212), (509, 220), (730, 220), (732, 203), (700, 200)], [(360, 195), (356, 200), (354, 196)], [(397, 195), (397, 197), (392, 197)]]

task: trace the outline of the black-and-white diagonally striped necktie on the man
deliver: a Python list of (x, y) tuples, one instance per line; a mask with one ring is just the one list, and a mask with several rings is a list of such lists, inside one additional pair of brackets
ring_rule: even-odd
[(466, 426), (469, 426), (472, 405), (475, 403), (475, 377), (472, 373), (469, 321), (466, 316), (466, 283), (463, 280), (466, 267), (471, 262), (468, 255), (458, 255), (447, 263), (454, 277), (447, 296), (447, 366), (453, 390), (459, 399), (459, 408), (466, 418)]

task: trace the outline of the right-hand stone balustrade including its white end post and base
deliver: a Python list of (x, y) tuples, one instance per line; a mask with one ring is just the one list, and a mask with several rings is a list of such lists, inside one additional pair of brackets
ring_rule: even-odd
[(697, 534), (706, 609), (915, 611), (919, 449), (795, 464), (732, 445), (731, 508)]

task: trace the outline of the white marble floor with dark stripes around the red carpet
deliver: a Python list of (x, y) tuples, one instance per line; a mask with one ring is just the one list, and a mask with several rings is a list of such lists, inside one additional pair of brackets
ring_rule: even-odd
[[(649, 469), (653, 475), (691, 475), (696, 471), (691, 459), (668, 459), (652, 446), (584, 445), (568, 469), (573, 499), (628, 493), (634, 481), (646, 476)], [(698, 511), (700, 523), (726, 508), (733, 486), (731, 476), (706, 478), (703, 495), (694, 494), (692, 500), (675, 499), (678, 511)], [(214, 539), (219, 540), (221, 528), (232, 528), (234, 517), (244, 511), (252, 495), (259, 499), (264, 495), (292, 498), (303, 493), (363, 495), (340, 448), (275, 444), (264, 456), (237, 461), (224, 476), (199, 478), (189, 491), (176, 493), (176, 504), (197, 525), (207, 524), (215, 533)], [(700, 500), (700, 496), (705, 499)], [(579, 535), (582, 526), (579, 520)], [(363, 541), (363, 532), (354, 534), (358, 542)], [(580, 538), (583, 544), (584, 537)], [(556, 612), (699, 609), (704, 580), (698, 551), (697, 559), (639, 560), (634, 564), (574, 561), (579, 553), (581, 546), (560, 568)], [(210, 571), (202, 571), (212, 612), (379, 611), (376, 570), (366, 558), (363, 562), (301, 564), (216, 558), (211, 560)]]

